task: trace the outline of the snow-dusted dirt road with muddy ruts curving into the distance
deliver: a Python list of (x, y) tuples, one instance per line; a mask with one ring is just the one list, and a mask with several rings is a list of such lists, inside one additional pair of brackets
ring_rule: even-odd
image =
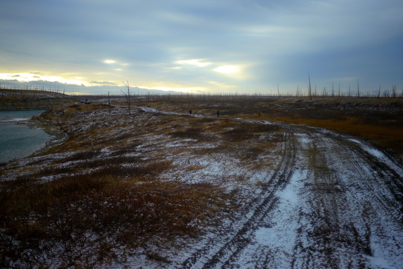
[[(243, 218), (207, 234), (168, 267), (403, 268), (401, 159), (326, 129), (280, 126), (281, 154), (273, 152), (274, 167), (260, 176), (262, 188), (240, 202)], [(213, 161), (203, 161), (211, 171)], [(220, 170), (227, 161), (214, 165)]]

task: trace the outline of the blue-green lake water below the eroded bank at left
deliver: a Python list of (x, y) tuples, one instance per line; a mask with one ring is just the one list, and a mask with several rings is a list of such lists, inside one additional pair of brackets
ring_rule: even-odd
[(25, 126), (4, 121), (30, 119), (46, 110), (0, 111), (0, 162), (26, 157), (45, 146), (52, 136), (42, 129), (30, 129)]

